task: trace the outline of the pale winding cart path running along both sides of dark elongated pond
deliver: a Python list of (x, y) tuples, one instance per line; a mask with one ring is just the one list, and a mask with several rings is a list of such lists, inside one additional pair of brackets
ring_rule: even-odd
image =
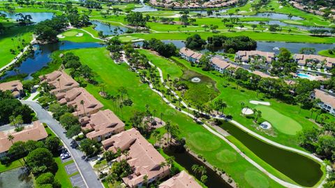
[[(126, 62), (126, 64), (129, 65), (129, 63), (128, 63), (128, 61), (127, 61), (126, 56), (124, 55), (124, 53), (123, 53), (122, 56), (123, 56), (123, 58), (124, 58), (124, 62)], [(149, 62), (149, 64), (150, 64), (151, 66), (154, 66), (154, 64), (152, 64), (151, 62)], [(161, 82), (164, 82), (164, 81), (163, 81), (163, 80), (164, 80), (164, 79), (163, 79), (163, 72), (161, 71), (161, 68), (158, 68), (157, 66), (156, 66), (156, 68), (158, 69), (158, 72), (159, 72), (159, 74), (160, 74), (160, 77), (161, 77), (160, 80), (161, 80)], [(135, 71), (135, 72), (136, 72), (136, 73), (139, 73), (138, 71)], [(146, 80), (147, 80), (147, 78), (146, 78)], [(172, 108), (174, 108), (174, 109), (177, 108), (177, 106), (174, 106), (172, 103), (170, 103), (170, 101), (168, 101), (168, 99), (166, 99), (166, 98), (164, 97), (164, 95), (163, 95), (161, 92), (159, 92), (159, 91), (157, 91), (156, 89), (154, 89), (154, 86), (152, 85), (152, 83), (151, 83), (149, 80), (147, 80), (147, 82), (149, 82), (149, 87), (151, 88), (151, 90), (153, 90), (153, 91), (156, 92), (159, 96), (161, 96), (162, 99), (163, 99), (163, 101), (165, 101), (170, 107), (172, 107)], [(170, 88), (170, 87), (168, 87), (167, 85), (165, 85), (165, 87), (166, 87), (166, 88)], [(172, 92), (172, 93), (174, 94), (174, 96), (176, 96), (177, 99), (179, 99), (179, 96), (178, 96), (175, 92)], [(182, 103), (186, 108), (188, 108), (188, 106), (186, 105), (186, 103), (184, 103), (184, 101), (181, 101), (181, 103)], [(189, 109), (198, 111), (198, 110), (196, 110), (196, 109), (194, 109), (194, 108), (189, 108)], [(192, 117), (192, 118), (193, 118), (194, 120), (196, 120), (197, 122), (201, 122), (201, 121), (198, 120), (198, 118), (195, 117), (194, 115), (192, 115), (192, 114), (190, 114), (190, 113), (188, 113), (188, 112), (186, 112), (186, 111), (184, 111), (184, 110), (179, 110), (179, 111), (180, 111), (181, 113), (184, 113), (184, 114), (188, 115), (189, 117)], [(222, 119), (222, 120), (224, 120), (224, 118), (223, 118), (223, 117), (220, 117), (220, 116), (215, 116), (214, 118), (218, 118), (218, 119)], [(322, 162), (321, 159), (318, 159), (318, 157), (315, 157), (313, 154), (308, 154), (308, 153), (303, 152), (303, 151), (301, 151), (301, 150), (297, 150), (297, 149), (292, 148), (292, 147), (287, 147), (287, 146), (285, 146), (285, 145), (281, 145), (281, 144), (275, 143), (274, 141), (271, 141), (271, 140), (269, 140), (269, 139), (267, 139), (267, 138), (264, 138), (264, 137), (258, 135), (257, 133), (255, 133), (255, 132), (253, 132), (253, 131), (247, 129), (245, 126), (239, 124), (238, 122), (235, 122), (234, 120), (232, 120), (231, 122), (232, 122), (233, 124), (236, 124), (237, 126), (239, 126), (241, 129), (242, 129), (242, 127), (243, 127), (243, 130), (244, 130), (244, 131), (247, 131), (248, 133), (251, 133), (253, 136), (255, 136), (255, 137), (257, 137), (257, 138), (260, 138), (260, 139), (262, 139), (262, 140), (264, 139), (264, 141), (267, 142), (267, 143), (276, 145), (277, 147), (284, 148), (285, 150), (290, 150), (290, 151), (293, 151), (293, 152), (298, 152), (299, 154), (307, 155), (308, 157), (312, 157), (313, 159), (317, 159), (318, 161), (321, 161), (321, 162)], [(230, 140), (228, 140), (227, 138), (225, 138), (225, 136), (223, 136), (223, 134), (218, 133), (217, 131), (214, 131), (214, 129), (211, 129), (211, 127), (207, 126), (207, 124), (202, 123), (202, 126), (203, 126), (205, 129), (207, 129), (207, 131), (213, 133), (215, 136), (218, 136), (218, 138), (221, 138), (221, 139), (224, 140), (226, 143), (228, 143), (228, 145), (230, 145), (236, 152), (238, 152), (238, 153), (241, 155), (241, 157), (243, 157), (243, 158), (246, 159), (249, 163), (251, 163), (253, 166), (255, 166), (256, 168), (258, 168), (258, 170), (262, 171), (262, 173), (265, 173), (265, 175), (267, 175), (267, 176), (268, 176), (269, 178), (271, 178), (272, 180), (278, 182), (280, 185), (283, 185), (284, 187), (289, 187), (289, 188), (301, 188), (301, 187), (298, 186), (298, 185), (293, 185), (293, 184), (291, 184), (291, 183), (289, 183), (289, 182), (285, 182), (285, 181), (283, 181), (283, 180), (277, 178), (275, 175), (269, 173), (265, 168), (263, 168), (263, 167), (260, 166), (258, 163), (256, 163), (255, 161), (253, 161), (253, 159), (251, 159), (250, 157), (246, 156), (246, 154), (244, 154), (243, 152), (241, 152), (241, 150), (239, 150), (239, 148), (238, 148), (237, 146), (235, 146), (233, 143), (231, 143)], [(322, 187), (322, 184), (323, 184), (324, 182), (325, 182), (325, 180), (321, 183), (321, 185), (319, 185), (319, 187)]]

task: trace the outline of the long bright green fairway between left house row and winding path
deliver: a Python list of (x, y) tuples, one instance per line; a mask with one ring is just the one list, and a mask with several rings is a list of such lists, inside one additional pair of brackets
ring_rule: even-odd
[[(223, 168), (234, 180), (239, 182), (241, 187), (253, 187), (244, 177), (244, 172), (248, 170), (260, 173), (260, 175), (269, 182), (269, 187), (281, 187), (281, 185), (267, 178), (265, 174), (249, 164), (223, 140), (216, 138), (202, 126), (195, 124), (191, 118), (167, 106), (160, 96), (149, 89), (148, 85), (140, 82), (140, 78), (138, 78), (136, 73), (128, 70), (126, 64), (114, 64), (105, 49), (91, 48), (71, 51), (74, 52), (75, 55), (80, 56), (83, 64), (87, 64), (93, 69), (98, 75), (96, 80), (105, 84), (105, 91), (109, 94), (117, 94), (117, 89), (121, 86), (127, 89), (129, 98), (133, 100), (133, 106), (125, 106), (123, 113), (119, 112), (119, 117), (121, 117), (126, 124), (129, 124), (128, 120), (135, 110), (144, 111), (145, 105), (149, 104), (149, 110), (157, 110), (157, 116), (163, 113), (164, 121), (171, 121), (172, 124), (179, 125), (181, 136), (186, 138), (186, 145), (188, 145), (191, 150), (197, 154), (202, 154), (212, 165)], [(96, 99), (101, 101), (105, 108), (114, 110), (112, 101), (103, 99), (103, 97), (98, 94), (100, 87), (87, 85), (86, 89), (93, 94)], [(207, 147), (210, 148), (211, 152), (207, 151), (209, 150)], [(236, 161), (233, 161), (230, 165), (218, 161), (216, 154), (223, 150), (228, 150), (236, 154)]]

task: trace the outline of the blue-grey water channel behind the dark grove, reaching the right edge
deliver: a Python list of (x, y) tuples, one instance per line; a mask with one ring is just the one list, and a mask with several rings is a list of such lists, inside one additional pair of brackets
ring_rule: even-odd
[[(185, 47), (184, 41), (177, 40), (163, 40), (163, 43), (173, 43), (177, 48)], [(135, 44), (142, 45), (142, 42), (137, 42)], [(291, 53), (299, 53), (301, 48), (315, 48), (315, 52), (320, 50), (328, 50), (335, 48), (335, 44), (322, 44), (322, 43), (286, 43), (286, 42), (266, 42), (266, 41), (257, 41), (256, 50), (265, 51), (265, 52), (275, 52), (279, 53), (276, 48), (287, 48)], [(207, 52), (208, 50), (202, 50), (202, 52)], [(213, 52), (224, 52), (223, 49), (216, 48)]]

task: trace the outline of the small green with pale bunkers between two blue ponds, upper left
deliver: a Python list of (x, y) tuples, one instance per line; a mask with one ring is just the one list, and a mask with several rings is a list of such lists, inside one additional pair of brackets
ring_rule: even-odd
[[(87, 34), (87, 32), (82, 31), (80, 29), (71, 29), (69, 31), (64, 31), (61, 33), (65, 38), (59, 38), (60, 41), (72, 41), (76, 43), (99, 43), (102, 42), (96, 38), (92, 38), (91, 35)], [(77, 34), (83, 34), (82, 36), (76, 36)]]

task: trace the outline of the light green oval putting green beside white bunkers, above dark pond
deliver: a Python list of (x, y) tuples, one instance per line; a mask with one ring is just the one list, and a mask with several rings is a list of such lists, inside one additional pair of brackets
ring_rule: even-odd
[(258, 105), (256, 109), (262, 111), (262, 117), (269, 121), (274, 128), (282, 133), (295, 135), (298, 131), (301, 131), (301, 125), (290, 117), (287, 117), (269, 106)]

